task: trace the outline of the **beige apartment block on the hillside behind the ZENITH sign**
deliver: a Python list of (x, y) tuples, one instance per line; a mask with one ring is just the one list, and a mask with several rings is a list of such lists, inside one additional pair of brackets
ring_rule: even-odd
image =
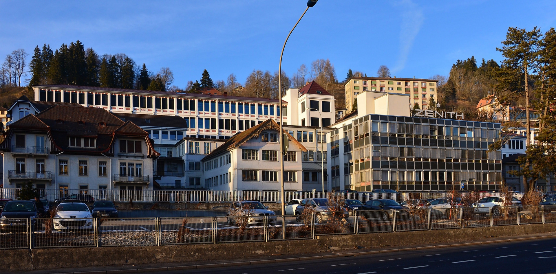
[(415, 78), (351, 77), (345, 83), (347, 113), (355, 110), (353, 109), (355, 98), (363, 91), (408, 94), (411, 97), (410, 108), (416, 103), (421, 109), (426, 109), (430, 98), (437, 101), (437, 82), (432, 79)]

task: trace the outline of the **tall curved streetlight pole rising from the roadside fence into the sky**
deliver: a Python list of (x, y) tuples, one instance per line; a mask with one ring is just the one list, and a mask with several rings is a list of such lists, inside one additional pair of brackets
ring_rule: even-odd
[[(303, 18), (303, 16), (305, 15), (305, 13), (307, 12), (307, 10), (309, 10), (310, 7), (315, 6), (316, 2), (319, 0), (309, 0), (309, 2), (307, 2), (307, 8), (305, 9), (305, 11), (303, 12), (303, 14), (301, 14), (301, 17), (299, 17), (299, 20), (297, 20), (297, 22), (295, 23), (294, 27), (291, 28), (291, 31), (289, 34), (287, 34), (286, 37), (286, 41), (284, 41), (284, 46), (282, 46), (282, 52), (280, 53), (280, 64), (278, 66), (278, 93), (280, 94), (279, 99), (280, 99), (280, 200), (281, 200), (281, 208), (282, 208), (282, 216), (286, 215), (286, 207), (285, 207), (285, 203), (284, 203), (284, 198), (285, 198), (285, 192), (284, 192), (284, 136), (282, 134), (282, 56), (284, 56), (284, 48), (286, 48), (286, 43), (287, 43), (287, 39), (290, 38), (291, 33), (294, 31), (295, 27), (297, 26), (297, 24), (299, 24), (299, 21), (301, 21), (301, 18)], [(284, 218), (282, 217), (282, 238), (286, 237), (286, 226), (285, 226), (285, 222), (284, 222)]]

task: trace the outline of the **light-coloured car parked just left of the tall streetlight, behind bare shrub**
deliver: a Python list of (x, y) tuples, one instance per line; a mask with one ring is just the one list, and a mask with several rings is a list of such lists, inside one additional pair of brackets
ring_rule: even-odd
[(226, 214), (226, 216), (229, 216), (229, 218), (227, 218), (228, 224), (237, 225), (236, 218), (230, 218), (232, 216), (249, 216), (246, 221), (247, 225), (262, 224), (264, 216), (269, 216), (269, 224), (276, 225), (276, 213), (268, 208), (269, 207), (257, 201), (233, 202)]

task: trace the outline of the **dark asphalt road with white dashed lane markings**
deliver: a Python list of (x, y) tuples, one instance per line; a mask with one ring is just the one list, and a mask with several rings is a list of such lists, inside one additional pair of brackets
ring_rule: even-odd
[[(497, 243), (356, 257), (167, 271), (219, 274), (555, 273), (556, 239)], [(152, 272), (155, 273), (155, 272)]]

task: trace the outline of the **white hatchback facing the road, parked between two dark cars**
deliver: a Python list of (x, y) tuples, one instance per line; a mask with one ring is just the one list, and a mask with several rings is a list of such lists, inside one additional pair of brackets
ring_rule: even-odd
[(54, 216), (55, 230), (91, 230), (93, 219), (85, 203), (61, 203)]

